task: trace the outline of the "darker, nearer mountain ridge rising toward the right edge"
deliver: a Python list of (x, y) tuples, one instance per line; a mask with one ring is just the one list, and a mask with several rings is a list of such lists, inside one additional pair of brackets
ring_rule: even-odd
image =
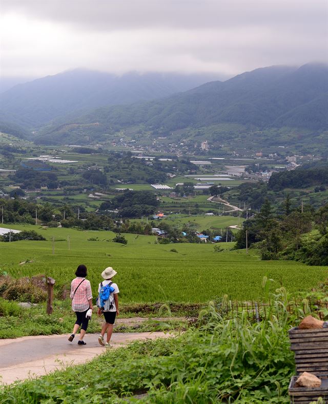
[[(258, 128), (328, 128), (328, 66), (272, 66), (210, 82), (172, 96), (91, 111), (66, 124), (97, 124), (96, 132), (143, 125), (170, 133), (187, 127), (234, 123)], [(61, 122), (61, 124), (63, 124)], [(42, 136), (63, 135), (61, 125), (48, 127)], [(92, 129), (87, 129), (92, 133)], [(81, 129), (83, 134), (83, 129)], [(39, 140), (41, 137), (39, 137)]]

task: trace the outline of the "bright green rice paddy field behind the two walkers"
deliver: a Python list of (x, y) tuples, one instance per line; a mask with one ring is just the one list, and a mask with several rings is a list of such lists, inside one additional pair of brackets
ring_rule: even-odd
[[(115, 280), (124, 303), (203, 302), (223, 294), (231, 299), (256, 299), (262, 295), (263, 276), (274, 279), (273, 290), (283, 285), (295, 293), (311, 290), (328, 277), (328, 267), (308, 267), (294, 261), (261, 261), (253, 250), (248, 255), (243, 250), (218, 253), (211, 244), (160, 245), (155, 244), (155, 236), (135, 234), (126, 235), (128, 245), (124, 246), (110, 241), (114, 233), (106, 231), (42, 229), (28, 225), (11, 228), (36, 230), (47, 241), (0, 243), (2, 270), (15, 277), (46, 274), (54, 277), (60, 286), (69, 284), (76, 267), (85, 264), (96, 295), (101, 271), (112, 266), (118, 272)], [(99, 241), (88, 241), (96, 237)], [(230, 249), (232, 244), (221, 246)], [(27, 259), (33, 262), (19, 265)]]

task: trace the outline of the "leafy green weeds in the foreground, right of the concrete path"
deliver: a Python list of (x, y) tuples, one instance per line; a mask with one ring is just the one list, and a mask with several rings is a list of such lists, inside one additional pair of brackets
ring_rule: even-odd
[(278, 289), (268, 318), (255, 323), (246, 315), (226, 319), (212, 302), (185, 333), (4, 387), (0, 402), (124, 403), (137, 402), (136, 394), (154, 403), (289, 402), (295, 365), (288, 329), (296, 320), (289, 298)]

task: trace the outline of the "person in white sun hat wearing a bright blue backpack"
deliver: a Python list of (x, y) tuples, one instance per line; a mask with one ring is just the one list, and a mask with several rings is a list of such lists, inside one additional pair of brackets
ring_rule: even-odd
[[(116, 315), (119, 315), (118, 310), (118, 286), (114, 284), (112, 278), (117, 274), (112, 267), (106, 268), (101, 272), (101, 277), (104, 278), (100, 282), (98, 287), (98, 315), (104, 314), (105, 323), (101, 328), (100, 335), (98, 337), (99, 344), (105, 347), (110, 347), (110, 340), (113, 333), (113, 325), (115, 323)], [(108, 298), (106, 300), (102, 298)], [(100, 307), (99, 307), (100, 306)], [(105, 333), (107, 332), (107, 342), (105, 343)]]

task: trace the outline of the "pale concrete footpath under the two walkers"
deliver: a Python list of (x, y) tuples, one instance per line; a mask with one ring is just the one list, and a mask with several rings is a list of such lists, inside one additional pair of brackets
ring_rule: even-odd
[(0, 383), (9, 384), (15, 380), (43, 376), (54, 370), (63, 370), (94, 358), (106, 349), (115, 349), (140, 339), (168, 337), (163, 332), (113, 333), (112, 348), (99, 345), (99, 334), (86, 334), (87, 345), (77, 345), (78, 335), (73, 342), (70, 334), (29, 336), (0, 340)]

